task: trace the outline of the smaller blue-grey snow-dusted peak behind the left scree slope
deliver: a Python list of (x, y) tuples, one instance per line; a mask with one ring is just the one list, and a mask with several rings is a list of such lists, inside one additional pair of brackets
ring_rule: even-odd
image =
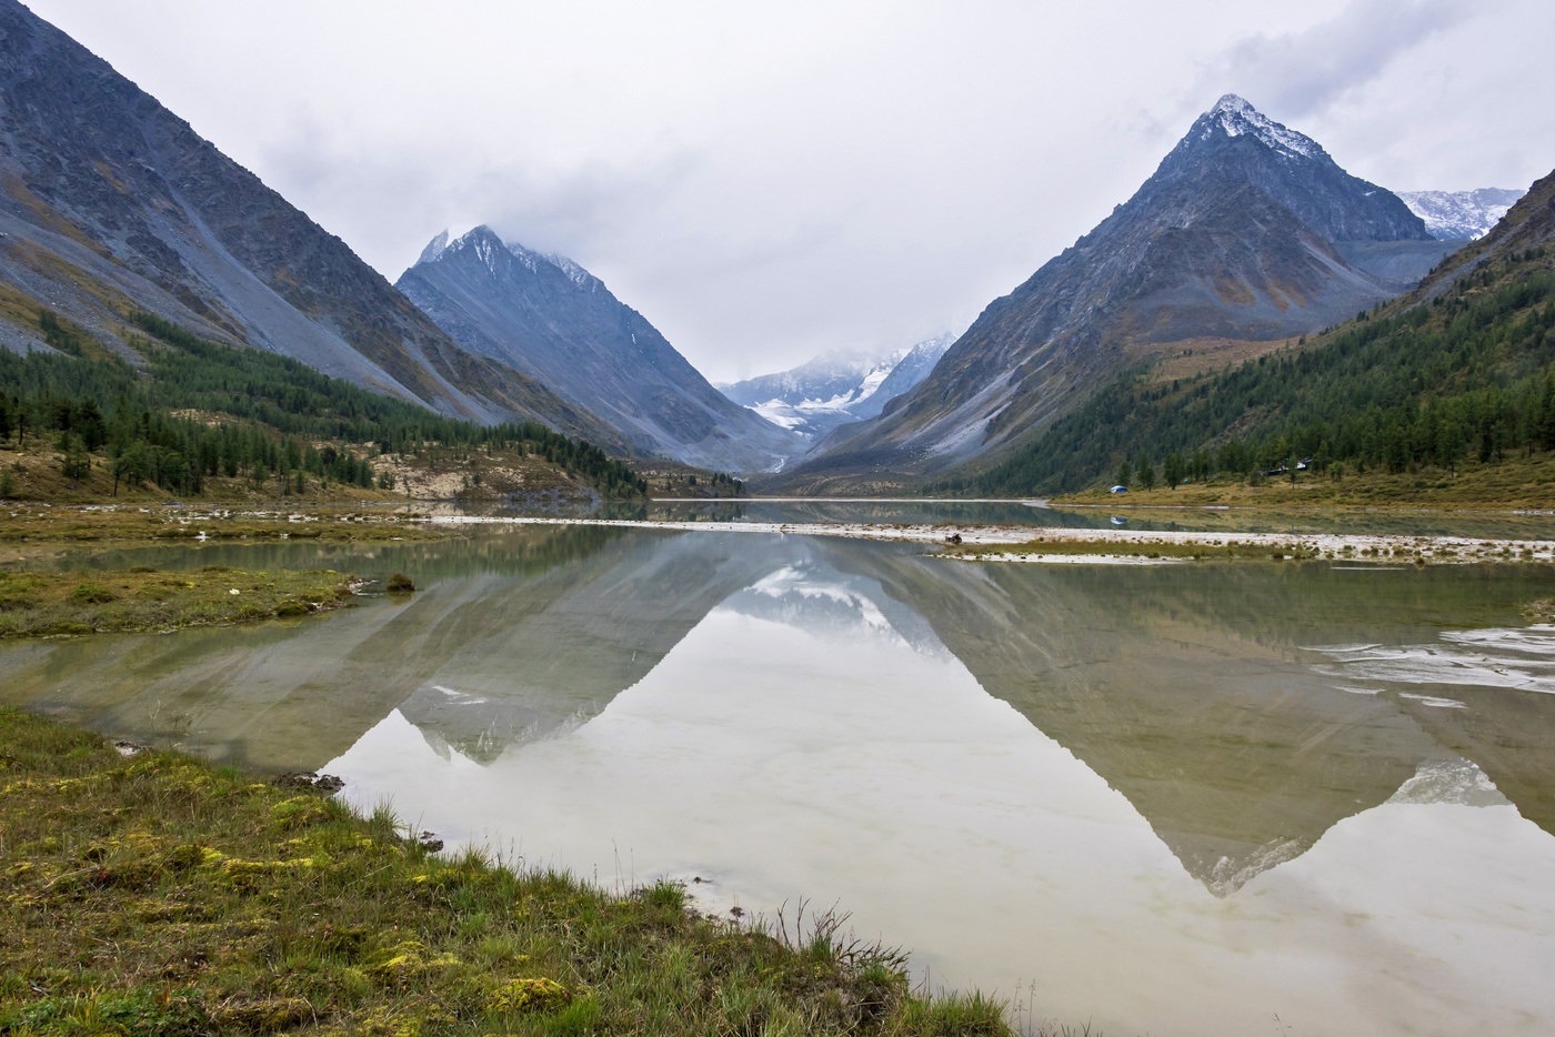
[(437, 235), (395, 286), (466, 350), (532, 375), (642, 452), (753, 473), (801, 446), (708, 384), (597, 277), (490, 227)]

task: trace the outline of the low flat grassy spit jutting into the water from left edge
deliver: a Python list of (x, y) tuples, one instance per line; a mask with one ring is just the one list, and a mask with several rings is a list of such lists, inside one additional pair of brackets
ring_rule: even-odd
[(342, 608), (351, 594), (351, 577), (328, 569), (0, 572), (0, 637), (224, 627)]

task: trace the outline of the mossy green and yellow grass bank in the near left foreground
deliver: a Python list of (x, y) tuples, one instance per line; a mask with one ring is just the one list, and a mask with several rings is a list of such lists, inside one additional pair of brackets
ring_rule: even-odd
[(616, 896), (0, 711), (0, 1034), (1008, 1034), (899, 953)]

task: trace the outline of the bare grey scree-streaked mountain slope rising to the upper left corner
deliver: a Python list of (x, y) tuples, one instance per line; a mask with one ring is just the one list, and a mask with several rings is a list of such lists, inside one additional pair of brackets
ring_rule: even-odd
[(44, 306), (132, 353), (149, 311), (482, 421), (610, 431), (473, 356), (344, 241), (16, 0), (0, 0), (0, 345)]

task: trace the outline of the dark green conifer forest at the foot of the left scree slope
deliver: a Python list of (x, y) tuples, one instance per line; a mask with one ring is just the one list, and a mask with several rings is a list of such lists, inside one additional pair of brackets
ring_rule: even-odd
[[(538, 423), (482, 426), (330, 378), (286, 356), (207, 342), (148, 312), (132, 367), (50, 311), (53, 353), (0, 350), (0, 445), (48, 437), (67, 477), (103, 454), (120, 482), (199, 494), (213, 476), (255, 484), (383, 484), (375, 459), (439, 448), (521, 449), (583, 476), (605, 496), (645, 490), (599, 448)], [(384, 485), (389, 488), (389, 485)], [(5, 496), (5, 494), (0, 494)]]

